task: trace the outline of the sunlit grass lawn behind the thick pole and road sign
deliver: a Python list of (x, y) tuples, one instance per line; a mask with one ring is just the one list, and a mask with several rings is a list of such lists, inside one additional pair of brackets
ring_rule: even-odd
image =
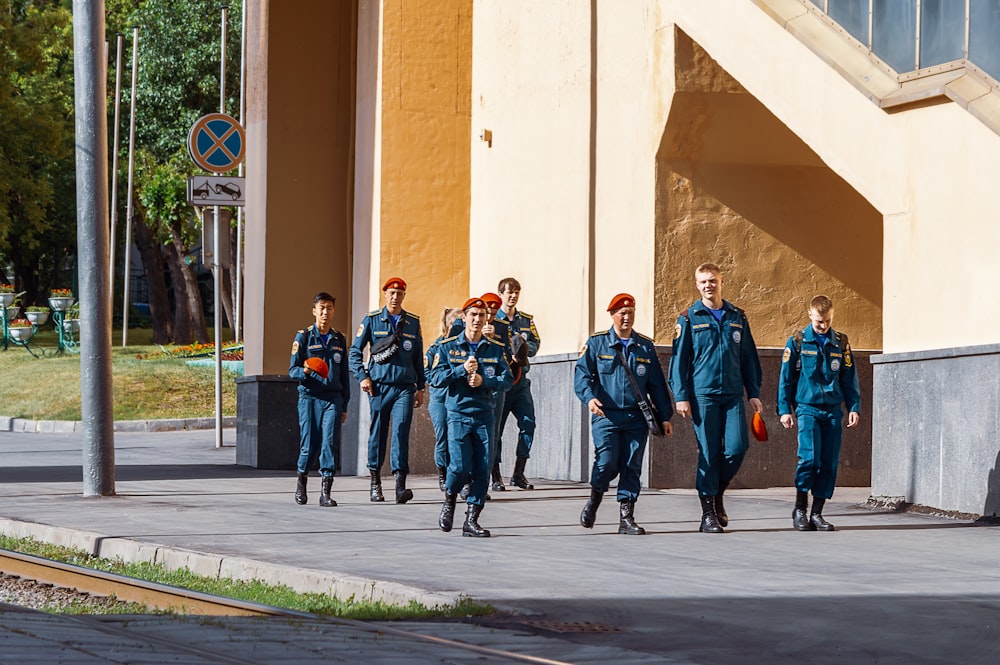
[[(80, 356), (56, 355), (58, 339), (50, 326), (31, 340), (39, 358), (13, 344), (6, 351), (0, 346), (0, 416), (80, 420)], [(215, 368), (162, 356), (160, 347), (150, 344), (151, 336), (148, 329), (131, 329), (129, 346), (123, 348), (121, 330), (112, 335), (115, 420), (214, 416)], [(226, 339), (232, 335), (223, 334)], [(236, 415), (235, 378), (222, 373), (222, 412), (227, 416)]]

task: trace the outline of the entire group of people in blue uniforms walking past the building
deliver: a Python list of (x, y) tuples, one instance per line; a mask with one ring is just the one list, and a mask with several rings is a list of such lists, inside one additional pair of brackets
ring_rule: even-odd
[[(612, 298), (607, 308), (610, 328), (591, 335), (580, 353), (574, 390), (591, 413), (595, 448), (591, 493), (580, 514), (585, 528), (594, 526), (603, 496), (617, 476), (618, 532), (645, 533), (636, 522), (635, 504), (646, 443), (650, 432), (672, 434), (670, 420), (675, 411), (690, 418), (698, 440), (699, 530), (723, 533), (728, 526), (723, 495), (749, 447), (746, 403), (758, 414), (763, 408), (761, 366), (746, 314), (722, 298), (719, 267), (698, 266), (695, 285), (701, 298), (678, 317), (669, 381), (653, 340), (632, 328), (636, 302), (628, 293)], [(511, 413), (519, 430), (511, 484), (532, 489), (524, 475), (534, 435), (534, 403), (526, 374), (528, 358), (537, 353), (540, 343), (530, 315), (516, 309), (521, 291), (517, 280), (502, 280), (498, 291), (468, 299), (460, 318), (426, 356), (419, 319), (402, 309), (406, 292), (402, 279), (385, 282), (385, 307), (365, 317), (349, 351), (344, 336), (330, 327), (333, 298), (325, 293), (316, 296), (315, 323), (296, 335), (289, 370), (299, 381), (297, 502), (307, 501), (307, 474), (318, 461), (320, 504), (336, 505), (329, 493), (339, 462), (339, 428), (350, 398), (348, 373), (369, 396), (370, 498), (384, 501), (380, 469), (391, 427), (395, 498), (397, 503), (409, 501), (413, 496), (406, 488), (409, 428), (413, 408), (423, 403), (429, 384), (436, 393), (433, 399), (444, 405), (439, 412), (444, 417), (435, 417), (435, 427), (440, 430), (442, 423), (447, 427), (447, 455), (435, 453), (444, 491), (438, 526), (446, 532), (452, 529), (456, 503), (462, 496), (467, 503), (463, 535), (490, 535), (478, 520), (488, 490), (506, 489), (500, 474), (500, 438)], [(809, 316), (810, 325), (796, 331), (785, 347), (777, 411), (784, 427), (793, 427), (795, 418), (799, 426), (793, 526), (802, 531), (830, 531), (834, 527), (822, 517), (822, 509), (836, 484), (842, 405), (848, 410), (847, 426), (856, 425), (860, 391), (847, 336), (831, 328), (832, 301), (817, 296), (810, 303)], [(329, 371), (320, 376), (310, 369), (310, 357), (322, 358)], [(440, 431), (438, 435), (441, 439)], [(807, 514), (810, 491), (814, 501)]]

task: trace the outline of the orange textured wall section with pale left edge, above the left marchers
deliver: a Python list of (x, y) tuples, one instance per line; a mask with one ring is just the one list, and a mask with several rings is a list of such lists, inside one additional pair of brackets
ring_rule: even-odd
[(367, 270), (354, 326), (399, 276), (433, 339), (441, 308), (468, 290), (472, 2), (384, 0), (359, 13), (355, 247)]

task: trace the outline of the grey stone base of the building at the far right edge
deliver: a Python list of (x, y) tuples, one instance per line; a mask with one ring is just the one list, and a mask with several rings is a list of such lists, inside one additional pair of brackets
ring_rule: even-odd
[(1000, 513), (1000, 344), (872, 356), (872, 495)]

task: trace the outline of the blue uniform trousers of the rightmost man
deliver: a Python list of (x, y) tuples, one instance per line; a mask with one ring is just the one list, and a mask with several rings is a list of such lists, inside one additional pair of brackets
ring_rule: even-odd
[(799, 405), (795, 415), (799, 420), (799, 465), (795, 469), (795, 487), (803, 492), (812, 490), (817, 499), (832, 498), (837, 484), (843, 434), (844, 415), (840, 405), (835, 409)]

